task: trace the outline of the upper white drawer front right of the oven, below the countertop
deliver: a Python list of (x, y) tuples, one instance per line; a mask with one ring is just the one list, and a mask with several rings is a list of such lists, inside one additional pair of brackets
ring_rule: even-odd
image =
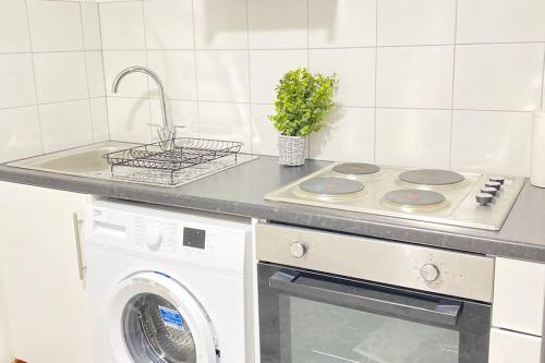
[(545, 264), (496, 258), (492, 325), (541, 336)]

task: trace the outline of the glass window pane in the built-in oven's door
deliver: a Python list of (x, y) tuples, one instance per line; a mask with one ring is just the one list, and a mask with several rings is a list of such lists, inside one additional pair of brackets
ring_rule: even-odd
[(283, 363), (458, 363), (460, 334), (280, 295)]

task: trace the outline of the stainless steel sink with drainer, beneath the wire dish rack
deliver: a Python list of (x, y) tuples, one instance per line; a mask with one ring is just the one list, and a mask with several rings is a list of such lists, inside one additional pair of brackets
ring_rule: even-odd
[[(216, 145), (216, 143), (223, 145), (222, 143), (227, 143), (198, 138), (186, 140), (194, 143), (205, 143), (205, 145), (206, 143), (213, 143), (211, 145)], [(8, 164), (8, 166), (60, 174), (175, 187), (257, 158), (246, 154), (226, 153), (226, 156), (206, 159), (206, 156), (211, 153), (209, 150), (208, 154), (204, 154), (198, 158), (195, 156), (196, 148), (193, 147), (189, 148), (185, 153), (181, 149), (179, 149), (179, 154), (174, 153), (171, 156), (172, 161), (170, 164), (174, 165), (175, 168), (169, 169), (167, 167), (170, 164), (156, 153), (154, 146), (157, 145), (105, 142), (17, 160)], [(126, 149), (131, 149), (131, 152), (125, 153), (124, 150)], [(121, 150), (123, 152), (116, 153)], [(204, 152), (207, 150), (204, 149)], [(105, 155), (110, 153), (117, 154), (112, 156), (113, 164), (116, 164), (114, 167), (111, 167), (105, 158)], [(180, 162), (180, 157), (185, 154), (189, 155), (186, 157), (187, 161)], [(168, 155), (166, 154), (166, 156)], [(125, 158), (126, 162), (124, 161)]]

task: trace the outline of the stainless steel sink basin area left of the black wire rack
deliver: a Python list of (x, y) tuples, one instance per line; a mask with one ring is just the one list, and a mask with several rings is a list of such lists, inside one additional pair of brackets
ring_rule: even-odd
[(110, 166), (106, 162), (104, 155), (133, 146), (136, 145), (120, 142), (105, 142), (19, 160), (8, 166), (71, 176), (104, 178), (107, 173), (110, 173)]

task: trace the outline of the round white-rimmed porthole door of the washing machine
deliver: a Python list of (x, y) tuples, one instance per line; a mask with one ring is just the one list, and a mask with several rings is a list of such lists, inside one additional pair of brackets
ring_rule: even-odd
[(211, 322), (179, 282), (158, 273), (121, 281), (112, 299), (110, 340), (118, 363), (217, 363)]

